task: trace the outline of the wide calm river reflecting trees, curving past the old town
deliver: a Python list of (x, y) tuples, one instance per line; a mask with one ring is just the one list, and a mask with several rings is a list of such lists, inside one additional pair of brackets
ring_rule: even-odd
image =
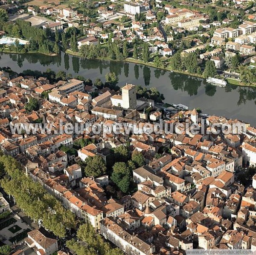
[(182, 103), (204, 113), (237, 118), (256, 126), (256, 88), (227, 85), (225, 88), (209, 85), (204, 79), (176, 74), (134, 63), (103, 60), (83, 60), (61, 52), (58, 56), (43, 54), (0, 54), (0, 67), (9, 66), (15, 72), (26, 69), (55, 72), (63, 70), (73, 76), (81, 75), (93, 81), (105, 81), (107, 72), (115, 72), (119, 86), (125, 83), (156, 87), (166, 103)]

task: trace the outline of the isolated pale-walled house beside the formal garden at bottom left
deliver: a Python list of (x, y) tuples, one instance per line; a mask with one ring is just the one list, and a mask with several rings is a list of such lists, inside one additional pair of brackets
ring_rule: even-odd
[(28, 232), (28, 238), (25, 243), (30, 248), (35, 248), (38, 255), (51, 255), (58, 251), (58, 241), (49, 235), (49, 232), (43, 228)]

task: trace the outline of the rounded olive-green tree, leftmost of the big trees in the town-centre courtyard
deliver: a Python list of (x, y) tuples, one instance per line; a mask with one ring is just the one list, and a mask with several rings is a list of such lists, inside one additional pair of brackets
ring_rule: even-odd
[(86, 176), (97, 177), (106, 173), (106, 164), (102, 157), (96, 155), (85, 160), (84, 173)]

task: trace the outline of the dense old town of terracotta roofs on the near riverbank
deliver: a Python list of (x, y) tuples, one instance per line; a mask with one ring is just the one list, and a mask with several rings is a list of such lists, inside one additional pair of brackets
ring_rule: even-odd
[[(122, 251), (256, 249), (256, 176), (238, 177), (245, 176), (242, 166), (255, 174), (256, 129), (249, 123), (241, 134), (215, 135), (213, 124), (243, 122), (196, 109), (166, 109), (137, 97), (132, 84), (115, 92), (73, 78), (50, 84), (44, 77), (10, 77), (6, 71), (0, 72), (0, 81), (3, 153)], [(95, 89), (98, 96), (92, 98)], [(166, 125), (198, 123), (204, 132), (194, 135), (187, 128), (157, 135), (123, 129), (95, 135), (92, 129), (95, 123), (102, 132), (116, 123), (140, 129), (160, 118)], [(60, 134), (59, 120), (83, 123), (81, 134)], [(51, 123), (52, 130), (12, 134), (15, 123)], [(39, 229), (28, 233), (26, 243), (50, 254), (58, 249), (54, 240)]]

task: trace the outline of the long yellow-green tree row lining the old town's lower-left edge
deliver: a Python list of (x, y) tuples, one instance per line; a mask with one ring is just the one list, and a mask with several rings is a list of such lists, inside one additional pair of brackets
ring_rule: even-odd
[(27, 216), (43, 224), (59, 238), (65, 237), (67, 229), (75, 227), (75, 215), (64, 209), (40, 183), (26, 176), (17, 160), (2, 155), (0, 166), (6, 172), (5, 178), (0, 181), (1, 187), (15, 198), (15, 202)]

